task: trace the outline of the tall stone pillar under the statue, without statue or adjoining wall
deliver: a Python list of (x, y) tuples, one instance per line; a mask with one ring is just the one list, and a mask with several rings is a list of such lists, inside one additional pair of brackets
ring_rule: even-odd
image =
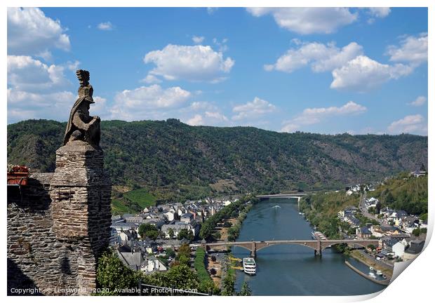
[(109, 245), (110, 194), (101, 149), (77, 140), (56, 151), (50, 196), (65, 287), (95, 288), (98, 257)]

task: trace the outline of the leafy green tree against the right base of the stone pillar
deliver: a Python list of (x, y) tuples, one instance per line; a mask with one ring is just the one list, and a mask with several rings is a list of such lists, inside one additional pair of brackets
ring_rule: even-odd
[(116, 295), (115, 289), (137, 287), (138, 278), (139, 274), (126, 267), (112, 250), (98, 260), (97, 283), (100, 288), (109, 289), (106, 295)]

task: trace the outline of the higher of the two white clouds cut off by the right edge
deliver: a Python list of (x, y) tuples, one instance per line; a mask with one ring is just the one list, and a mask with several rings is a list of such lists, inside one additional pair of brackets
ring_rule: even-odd
[(420, 65), (427, 61), (427, 33), (419, 36), (406, 36), (400, 42), (400, 47), (389, 46), (387, 55), (393, 62), (410, 62), (413, 65)]

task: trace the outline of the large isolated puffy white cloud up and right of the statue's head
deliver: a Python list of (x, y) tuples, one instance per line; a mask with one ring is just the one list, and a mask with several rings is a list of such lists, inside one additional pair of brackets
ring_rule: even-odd
[(145, 63), (156, 67), (149, 74), (163, 76), (166, 80), (217, 82), (234, 66), (232, 58), (223, 58), (210, 46), (177, 46), (169, 44), (162, 50), (153, 50), (144, 58)]

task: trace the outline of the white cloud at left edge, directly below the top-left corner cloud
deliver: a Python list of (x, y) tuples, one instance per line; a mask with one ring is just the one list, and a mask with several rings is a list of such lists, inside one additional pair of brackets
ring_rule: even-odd
[(8, 86), (20, 91), (60, 89), (69, 82), (64, 67), (46, 65), (30, 56), (8, 55)]

